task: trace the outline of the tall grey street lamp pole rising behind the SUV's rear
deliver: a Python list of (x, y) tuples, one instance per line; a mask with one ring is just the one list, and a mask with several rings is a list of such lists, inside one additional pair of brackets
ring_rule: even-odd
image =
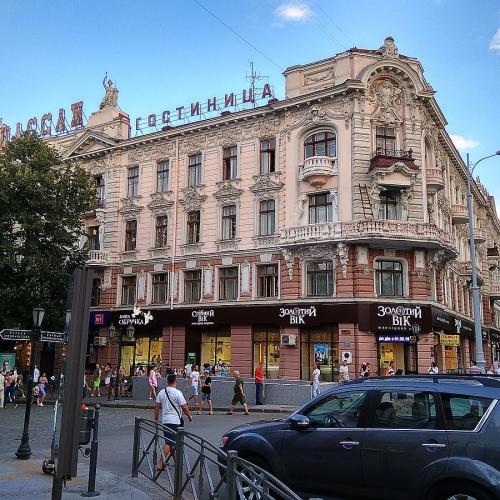
[(486, 361), (484, 359), (483, 351), (483, 334), (481, 329), (481, 308), (479, 286), (477, 285), (477, 271), (476, 271), (476, 245), (474, 241), (474, 210), (472, 206), (472, 174), (478, 163), (493, 156), (500, 155), (500, 151), (495, 154), (485, 156), (476, 161), (472, 167), (469, 163), (469, 153), (467, 153), (467, 212), (469, 215), (469, 242), (470, 242), (470, 263), (472, 266), (472, 306), (474, 309), (474, 333), (476, 338), (476, 363), (478, 368), (485, 372)]

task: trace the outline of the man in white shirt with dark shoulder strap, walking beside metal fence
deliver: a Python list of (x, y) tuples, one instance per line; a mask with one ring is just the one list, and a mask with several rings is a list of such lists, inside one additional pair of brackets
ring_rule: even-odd
[(172, 450), (172, 456), (175, 458), (175, 437), (173, 433), (177, 432), (179, 427), (183, 426), (181, 415), (184, 413), (189, 422), (193, 421), (193, 417), (189, 411), (189, 407), (179, 389), (177, 389), (176, 376), (171, 373), (167, 375), (167, 387), (162, 389), (156, 396), (156, 404), (154, 410), (155, 422), (158, 422), (158, 417), (161, 410), (161, 423), (170, 430), (164, 430), (165, 445), (163, 446), (163, 456), (160, 456), (159, 462), (156, 464), (157, 470), (163, 470), (165, 462), (163, 458), (167, 458)]

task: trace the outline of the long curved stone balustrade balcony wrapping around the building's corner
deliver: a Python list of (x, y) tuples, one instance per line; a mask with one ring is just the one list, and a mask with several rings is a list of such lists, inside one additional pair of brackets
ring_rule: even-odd
[(407, 248), (417, 244), (426, 248), (447, 249), (456, 254), (449, 233), (434, 224), (367, 219), (353, 222), (324, 222), (284, 229), (281, 245), (294, 246), (314, 242), (358, 241), (384, 248)]

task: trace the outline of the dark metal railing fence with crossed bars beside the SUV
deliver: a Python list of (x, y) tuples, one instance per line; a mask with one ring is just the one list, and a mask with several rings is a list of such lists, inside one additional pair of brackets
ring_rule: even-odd
[[(164, 445), (169, 446), (166, 453)], [(136, 418), (132, 477), (139, 474), (175, 500), (300, 500), (279, 479), (235, 451), (224, 453), (183, 429), (175, 432)]]

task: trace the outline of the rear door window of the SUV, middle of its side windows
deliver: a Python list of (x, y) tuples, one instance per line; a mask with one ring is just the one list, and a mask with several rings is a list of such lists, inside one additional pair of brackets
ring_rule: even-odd
[(428, 392), (381, 392), (377, 429), (437, 429), (436, 403)]

